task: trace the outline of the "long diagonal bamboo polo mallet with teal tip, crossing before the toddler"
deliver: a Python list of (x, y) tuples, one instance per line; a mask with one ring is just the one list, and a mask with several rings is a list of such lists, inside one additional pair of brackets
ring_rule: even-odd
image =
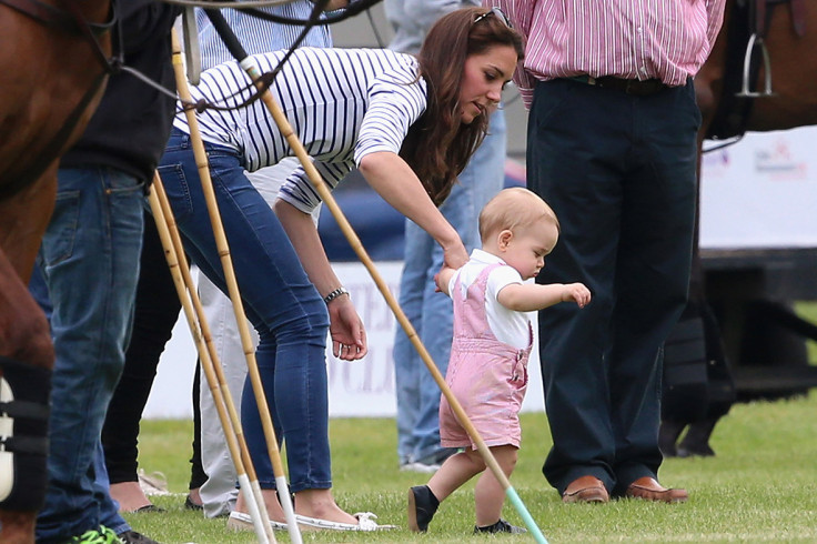
[[(253, 82), (255, 82), (256, 88), (259, 88), (260, 90), (263, 89), (262, 84), (259, 82), (259, 79), (261, 78), (261, 73), (259, 73), (258, 67), (255, 67), (252, 63), (251, 59), (246, 54), (246, 51), (244, 51), (244, 48), (241, 46), (239, 40), (235, 38), (235, 34), (233, 33), (232, 29), (230, 29), (229, 24), (226, 24), (226, 21), (224, 21), (224, 18), (221, 16), (221, 13), (219, 13), (215, 10), (206, 10), (206, 12), (208, 12), (208, 17), (210, 17), (210, 20), (213, 23), (213, 27), (221, 36), (221, 39), (224, 40), (224, 43), (226, 44), (230, 52), (233, 54), (233, 57), (235, 57), (235, 59), (239, 60), (241, 67), (244, 69), (248, 75), (250, 75), (250, 79)], [(326, 205), (326, 208), (329, 208), (329, 210), (332, 212), (332, 215), (334, 216), (339, 226), (341, 228), (344, 235), (349, 240), (349, 243), (352, 245), (352, 249), (357, 254), (357, 258), (361, 260), (361, 262), (365, 265), (370, 275), (372, 276), (375, 284), (377, 285), (377, 289), (380, 289), (380, 292), (385, 298), (386, 303), (392, 309), (392, 312), (397, 319), (397, 322), (400, 322), (401, 326), (405, 331), (412, 344), (414, 344), (414, 347), (416, 347), (417, 352), (420, 353), (420, 356), (423, 359), (423, 362), (425, 363), (425, 366), (428, 369), (428, 372), (432, 373), (434, 381), (437, 383), (437, 385), (440, 386), (440, 390), (445, 395), (445, 399), (448, 401), (448, 404), (451, 404), (451, 407), (456, 414), (456, 417), (460, 420), (463, 427), (465, 427), (465, 431), (468, 433), (468, 436), (471, 436), (471, 439), (476, 444), (477, 450), (480, 454), (482, 455), (483, 461), (485, 462), (485, 465), (488, 469), (491, 469), (491, 472), (494, 474), (496, 480), (500, 482), (503, 490), (505, 490), (506, 496), (508, 497), (511, 503), (514, 505), (516, 511), (520, 513), (520, 516), (525, 522), (525, 525), (527, 526), (532, 536), (537, 542), (547, 544), (547, 541), (542, 534), (542, 531), (539, 531), (538, 526), (536, 525), (536, 522), (534, 522), (533, 517), (531, 516), (531, 513), (527, 511), (527, 508), (525, 507), (525, 504), (522, 502), (522, 498), (520, 498), (520, 495), (516, 493), (516, 490), (514, 490), (513, 486), (511, 486), (511, 482), (508, 481), (507, 476), (505, 476), (505, 473), (502, 472), (502, 467), (496, 462), (496, 459), (494, 459), (494, 455), (491, 453), (491, 450), (488, 450), (487, 445), (485, 445), (485, 442), (480, 436), (480, 433), (476, 431), (476, 427), (474, 427), (473, 423), (468, 419), (462, 405), (456, 400), (456, 397), (452, 393), (448, 385), (445, 383), (445, 379), (440, 373), (440, 370), (434, 364), (434, 361), (431, 359), (431, 355), (428, 354), (425, 346), (423, 345), (423, 342), (417, 336), (417, 333), (414, 330), (414, 326), (412, 326), (411, 322), (403, 313), (403, 310), (400, 308), (400, 304), (394, 299), (394, 295), (392, 295), (391, 291), (389, 291), (389, 286), (386, 285), (383, 278), (380, 275), (380, 272), (377, 272), (377, 269), (374, 266), (374, 263), (372, 262), (371, 258), (366, 253), (366, 250), (363, 248), (363, 244), (357, 238), (357, 234), (355, 234), (354, 230), (352, 229), (352, 225), (349, 223), (345, 215), (341, 211), (340, 206), (335, 202), (334, 198), (332, 197), (332, 192), (326, 188), (326, 184), (321, 179), (321, 174), (317, 172), (315, 167), (312, 164), (312, 161), (310, 161), (310, 157), (306, 153), (306, 150), (304, 149), (301, 141), (297, 139), (297, 134), (293, 132), (292, 127), (290, 125), (290, 122), (286, 120), (286, 115), (284, 115), (283, 111), (281, 111), (281, 108), (275, 103), (275, 99), (273, 98), (269, 89), (263, 92), (263, 94), (261, 95), (261, 99), (264, 101), (264, 104), (266, 104), (266, 108), (270, 110), (270, 113), (272, 113), (272, 117), (275, 120), (275, 124), (281, 131), (281, 134), (284, 138), (286, 138), (286, 142), (290, 144), (292, 150), (295, 152), (295, 155), (301, 161), (301, 165), (304, 168), (306, 174), (310, 178), (310, 181), (312, 182), (315, 190), (317, 191), (317, 194), (321, 197), (321, 200)]]

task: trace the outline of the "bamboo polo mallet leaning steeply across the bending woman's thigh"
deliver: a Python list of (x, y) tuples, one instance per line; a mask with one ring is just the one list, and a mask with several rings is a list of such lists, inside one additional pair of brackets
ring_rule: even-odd
[[(192, 102), (192, 98), (190, 95), (190, 89), (188, 88), (188, 80), (184, 75), (179, 38), (176, 37), (175, 32), (173, 32), (172, 47), (176, 90), (182, 101), (190, 103)], [(206, 152), (204, 151), (204, 143), (201, 139), (201, 133), (199, 132), (199, 122), (193, 110), (185, 110), (185, 115), (188, 119), (188, 124), (190, 125), (190, 138), (193, 147), (193, 154), (195, 157), (196, 167), (199, 168), (199, 178), (201, 179), (202, 191), (204, 192), (204, 199), (208, 203), (208, 211), (210, 212), (210, 223), (213, 229), (213, 235), (215, 236), (215, 245), (219, 250), (219, 255), (221, 256), (221, 265), (224, 271), (224, 280), (228, 286), (230, 300), (233, 304), (235, 321), (238, 322), (239, 333), (241, 336), (241, 345), (244, 350), (244, 356), (246, 357), (250, 383), (252, 384), (255, 403), (259, 407), (259, 416), (261, 417), (261, 425), (264, 431), (264, 437), (266, 439), (266, 450), (268, 454), (270, 455), (272, 470), (275, 476), (275, 485), (279, 492), (278, 495), (281, 501), (281, 507), (286, 517), (286, 528), (290, 533), (292, 542), (295, 544), (301, 544), (301, 532), (297, 527), (297, 521), (295, 520), (295, 511), (292, 506), (290, 487), (286, 483), (286, 475), (284, 474), (283, 463), (281, 462), (281, 453), (278, 447), (275, 429), (272, 425), (272, 416), (270, 415), (270, 407), (266, 404), (266, 396), (264, 395), (264, 389), (261, 382), (261, 374), (259, 372), (258, 363), (255, 362), (255, 347), (253, 345), (252, 338), (250, 336), (250, 331), (246, 324), (244, 305), (241, 300), (241, 293), (239, 292), (235, 270), (233, 269), (232, 259), (230, 256), (230, 248), (224, 234), (224, 226), (221, 222), (221, 213), (219, 212), (219, 205), (215, 200), (215, 192), (213, 190), (212, 179), (210, 178), (208, 157)]]

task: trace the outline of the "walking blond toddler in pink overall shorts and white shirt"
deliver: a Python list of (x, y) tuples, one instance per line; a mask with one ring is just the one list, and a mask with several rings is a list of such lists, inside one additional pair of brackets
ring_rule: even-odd
[[(591, 301), (582, 283), (524, 283), (545, 265), (558, 240), (556, 214), (523, 188), (501, 191), (480, 214), (482, 249), (458, 270), (443, 268), (437, 288), (454, 302), (454, 340), (446, 383), (506, 476), (516, 464), (522, 431), (520, 409), (527, 387), (533, 326), (525, 312), (573, 301)], [(457, 421), (445, 396), (440, 403), (443, 447), (448, 457), (427, 485), (408, 492), (408, 527), (425, 532), (440, 502), (476, 474), (475, 533), (523, 533), (501, 517), (505, 491)]]

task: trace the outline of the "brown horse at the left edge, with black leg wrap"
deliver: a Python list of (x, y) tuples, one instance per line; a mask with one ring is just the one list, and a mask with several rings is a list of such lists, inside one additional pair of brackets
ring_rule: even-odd
[[(102, 97), (111, 0), (0, 0), (0, 542), (33, 542), (53, 346), (28, 292), (60, 157)], [(17, 421), (16, 421), (17, 420)]]

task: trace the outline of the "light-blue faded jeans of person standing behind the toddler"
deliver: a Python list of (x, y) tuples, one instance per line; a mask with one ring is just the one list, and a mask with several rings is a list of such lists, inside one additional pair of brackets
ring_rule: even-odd
[[(468, 251), (481, 245), (477, 220), (482, 208), (504, 184), (505, 133), (505, 114), (497, 110), (491, 118), (490, 134), (440, 208)], [(434, 274), (443, 265), (443, 251), (433, 238), (408, 220), (404, 261), (400, 305), (445, 375), (454, 325), (451, 299), (434, 292)], [(441, 450), (440, 387), (401, 328), (394, 338), (393, 359), (397, 390), (397, 456), (400, 463), (405, 464)]]

